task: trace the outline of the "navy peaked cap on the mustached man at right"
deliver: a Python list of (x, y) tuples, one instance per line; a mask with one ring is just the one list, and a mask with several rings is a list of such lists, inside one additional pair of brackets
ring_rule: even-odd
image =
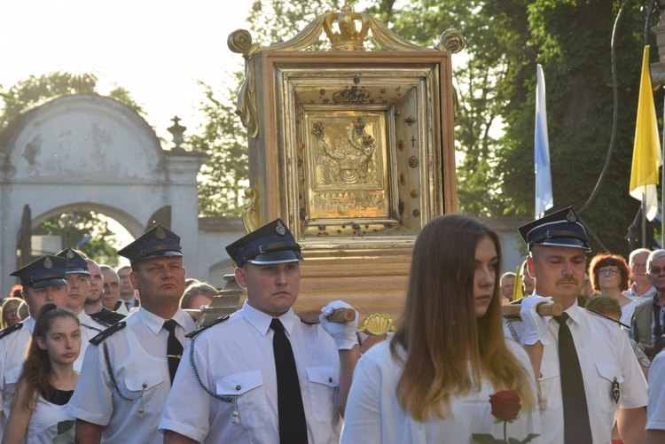
[(528, 222), (517, 230), (520, 231), (520, 236), (527, 243), (529, 250), (533, 245), (554, 245), (591, 251), (582, 220), (572, 206), (547, 214), (534, 222)]

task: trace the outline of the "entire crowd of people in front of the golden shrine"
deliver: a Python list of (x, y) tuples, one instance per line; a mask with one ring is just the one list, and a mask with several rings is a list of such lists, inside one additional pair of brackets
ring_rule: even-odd
[(166, 227), (121, 269), (45, 255), (0, 308), (2, 444), (665, 442), (665, 250), (588, 258), (572, 207), (519, 231), (528, 257), (502, 275), (488, 226), (427, 223), (397, 329), (362, 357), (348, 303), (293, 312), (303, 257), (280, 219), (226, 246), (246, 301), (198, 329), (217, 289)]

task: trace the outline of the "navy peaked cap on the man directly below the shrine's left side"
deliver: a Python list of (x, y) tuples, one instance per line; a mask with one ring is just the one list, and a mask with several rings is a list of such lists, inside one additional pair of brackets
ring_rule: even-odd
[(302, 261), (301, 245), (281, 219), (276, 219), (227, 245), (226, 253), (236, 265), (258, 265)]

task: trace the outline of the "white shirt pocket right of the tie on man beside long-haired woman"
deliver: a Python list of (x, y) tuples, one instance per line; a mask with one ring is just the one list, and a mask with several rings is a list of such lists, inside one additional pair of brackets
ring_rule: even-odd
[(336, 397), (340, 393), (340, 369), (334, 366), (309, 367), (309, 399), (317, 421), (332, 423), (337, 413)]

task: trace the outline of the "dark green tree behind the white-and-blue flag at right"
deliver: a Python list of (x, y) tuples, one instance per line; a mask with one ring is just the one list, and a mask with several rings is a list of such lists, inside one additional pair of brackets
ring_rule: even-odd
[[(523, 6), (526, 2), (514, 3)], [(534, 206), (536, 63), (543, 65), (547, 82), (555, 209), (568, 205), (580, 208), (591, 196), (612, 136), (614, 83), (610, 43), (614, 19), (622, 3), (531, 1), (526, 17), (517, 18), (521, 21), (519, 24), (514, 23), (514, 16), (497, 11), (497, 4), (488, 4), (487, 12), (501, 16), (509, 26), (513, 25), (512, 29), (523, 29), (527, 24), (528, 32), (516, 39), (515, 49), (521, 46), (537, 50), (521, 57), (519, 51), (512, 51), (512, 60), (517, 63), (509, 65), (509, 77), (519, 82), (507, 90), (505, 97), (505, 121), (509, 124), (498, 152), (498, 169), (504, 174), (504, 202), (511, 213), (532, 214)], [(614, 152), (597, 197), (582, 214), (601, 243), (614, 253), (628, 253), (624, 237), (639, 207), (639, 202), (630, 198), (628, 188), (644, 26), (645, 12), (640, 10), (640, 4), (633, 4), (625, 10), (617, 27), (619, 107)], [(652, 61), (657, 59), (654, 50), (652, 57)], [(601, 249), (599, 244), (593, 246), (594, 250)]]

